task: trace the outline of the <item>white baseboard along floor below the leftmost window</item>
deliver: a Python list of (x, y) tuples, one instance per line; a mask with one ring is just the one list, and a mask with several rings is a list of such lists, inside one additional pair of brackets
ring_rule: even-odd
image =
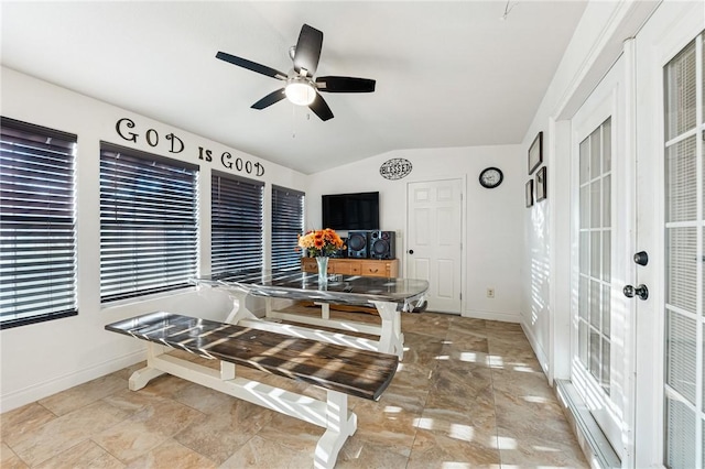
[(39, 384), (34, 384), (8, 394), (0, 395), (0, 413), (12, 411), (34, 401), (47, 397), (57, 392), (83, 384), (96, 378), (105, 377), (126, 367), (130, 367), (147, 359), (145, 350), (137, 350), (126, 356), (108, 360), (96, 366), (78, 370), (76, 372), (53, 378)]

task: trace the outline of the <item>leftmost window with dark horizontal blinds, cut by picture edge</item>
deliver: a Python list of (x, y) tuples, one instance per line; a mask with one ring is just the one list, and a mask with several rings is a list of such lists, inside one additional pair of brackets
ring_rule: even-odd
[(0, 328), (76, 315), (76, 135), (0, 123)]

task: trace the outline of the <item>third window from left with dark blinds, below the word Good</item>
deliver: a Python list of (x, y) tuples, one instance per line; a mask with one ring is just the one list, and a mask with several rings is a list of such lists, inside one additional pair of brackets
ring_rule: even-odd
[(210, 272), (262, 269), (263, 183), (213, 172)]

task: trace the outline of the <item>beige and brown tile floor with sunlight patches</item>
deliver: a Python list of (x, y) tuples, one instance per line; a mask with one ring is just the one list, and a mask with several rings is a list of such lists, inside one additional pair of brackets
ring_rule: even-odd
[[(336, 468), (587, 467), (519, 325), (433, 313), (402, 317), (402, 366), (379, 402), (349, 397), (358, 429)], [(128, 378), (142, 366), (0, 415), (0, 467), (313, 466), (322, 428), (173, 377), (131, 392)], [(313, 386), (245, 371), (238, 368), (323, 396)]]

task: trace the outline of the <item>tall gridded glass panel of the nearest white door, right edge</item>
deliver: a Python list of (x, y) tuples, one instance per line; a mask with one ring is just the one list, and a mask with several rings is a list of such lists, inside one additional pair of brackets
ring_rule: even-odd
[(703, 467), (704, 35), (664, 68), (664, 465)]

